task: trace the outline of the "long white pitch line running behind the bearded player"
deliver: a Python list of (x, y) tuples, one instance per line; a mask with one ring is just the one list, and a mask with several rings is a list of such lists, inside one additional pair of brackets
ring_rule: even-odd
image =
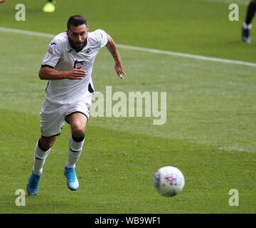
[[(39, 33), (39, 32), (35, 32), (35, 31), (26, 31), (26, 30), (15, 29), (15, 28), (0, 27), (0, 31), (10, 32), (10, 33), (21, 33), (21, 34), (26, 34), (26, 35), (31, 35), (31, 36), (41, 36), (41, 37), (43, 36), (43, 37), (48, 37), (48, 38), (55, 37), (55, 35), (49, 34), (49, 33)], [(225, 59), (225, 58), (198, 56), (198, 55), (193, 55), (193, 54), (188, 54), (188, 53), (179, 53), (179, 52), (174, 52), (174, 51), (163, 51), (163, 50), (152, 49), (152, 48), (128, 46), (128, 45), (124, 45), (124, 44), (117, 44), (117, 47), (129, 49), (129, 50), (135, 50), (135, 51), (146, 51), (146, 52), (150, 52), (150, 53), (165, 54), (165, 55), (169, 55), (169, 56), (196, 58), (196, 59), (200, 59), (203, 61), (214, 61), (214, 62), (220, 62), (220, 63), (231, 63), (231, 64), (238, 64), (238, 65), (243, 65), (243, 66), (256, 67), (256, 63), (250, 63), (250, 62), (245, 62), (245, 61), (236, 61), (236, 60)]]

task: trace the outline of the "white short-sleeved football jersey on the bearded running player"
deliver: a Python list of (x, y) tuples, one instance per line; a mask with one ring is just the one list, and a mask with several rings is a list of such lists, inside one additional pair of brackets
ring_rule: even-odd
[(68, 35), (60, 33), (48, 46), (41, 66), (57, 71), (72, 71), (82, 64), (87, 75), (82, 80), (50, 80), (46, 88), (46, 100), (51, 103), (69, 104), (85, 98), (94, 92), (92, 84), (92, 65), (100, 48), (107, 44), (107, 33), (101, 29), (89, 32), (87, 44), (78, 53), (71, 48)]

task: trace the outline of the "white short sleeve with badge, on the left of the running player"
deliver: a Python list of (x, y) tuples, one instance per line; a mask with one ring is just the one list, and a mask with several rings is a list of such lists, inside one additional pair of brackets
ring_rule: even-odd
[(60, 57), (62, 55), (63, 51), (61, 48), (60, 41), (51, 41), (48, 46), (48, 50), (46, 52), (46, 56), (43, 58), (43, 62), (41, 63), (41, 66), (51, 66), (52, 68), (55, 67), (55, 65), (60, 60)]

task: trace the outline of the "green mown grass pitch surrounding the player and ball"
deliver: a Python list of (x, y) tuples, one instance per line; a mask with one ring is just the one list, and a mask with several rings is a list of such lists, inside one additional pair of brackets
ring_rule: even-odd
[[(16, 21), (16, 4), (26, 21)], [(240, 20), (228, 20), (237, 3)], [(114, 41), (215, 58), (256, 63), (252, 43), (241, 41), (247, 1), (57, 0), (53, 14), (44, 1), (0, 4), (0, 27), (57, 34), (73, 14), (90, 31), (104, 29)], [(106, 48), (98, 54), (95, 90), (166, 92), (166, 123), (154, 118), (91, 117), (77, 164), (80, 188), (70, 192), (63, 167), (70, 127), (65, 125), (46, 160), (36, 197), (17, 207), (15, 193), (26, 190), (34, 147), (40, 138), (39, 112), (47, 81), (38, 70), (50, 38), (0, 31), (0, 213), (255, 213), (256, 68), (119, 48), (125, 79), (114, 72)], [(161, 197), (154, 172), (174, 165), (185, 177), (176, 197)], [(239, 206), (230, 206), (239, 192)]]

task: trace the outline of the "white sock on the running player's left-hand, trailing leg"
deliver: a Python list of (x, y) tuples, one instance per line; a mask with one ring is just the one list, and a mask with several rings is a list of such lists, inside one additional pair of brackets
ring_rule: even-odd
[(33, 162), (33, 173), (34, 174), (41, 175), (41, 173), (43, 172), (43, 165), (46, 161), (46, 157), (48, 156), (49, 152), (50, 152), (50, 149), (43, 151), (38, 146), (38, 142), (36, 143), (35, 157), (34, 157), (34, 162)]

